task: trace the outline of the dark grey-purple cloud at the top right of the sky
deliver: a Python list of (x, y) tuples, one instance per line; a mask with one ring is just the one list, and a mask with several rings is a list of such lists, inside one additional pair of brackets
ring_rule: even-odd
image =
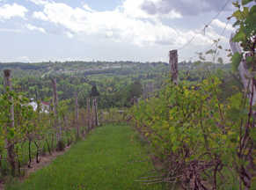
[[(203, 12), (221, 11), (224, 4), (226, 1), (223, 0), (146, 0), (141, 4), (141, 9), (149, 15), (168, 15), (175, 11), (186, 17), (196, 16)], [(231, 7), (229, 4), (224, 11), (230, 11)]]

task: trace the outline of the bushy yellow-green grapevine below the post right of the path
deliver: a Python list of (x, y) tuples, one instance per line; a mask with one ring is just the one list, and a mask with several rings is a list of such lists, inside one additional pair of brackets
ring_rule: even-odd
[(238, 164), (235, 136), (239, 131), (220, 103), (220, 84), (213, 76), (192, 87), (186, 82), (174, 86), (169, 81), (159, 98), (134, 107), (136, 128), (150, 141), (154, 156), (162, 162), (158, 182), (165, 179), (173, 186), (209, 188), (203, 181), (208, 178), (218, 188), (224, 179), (234, 178), (223, 173)]

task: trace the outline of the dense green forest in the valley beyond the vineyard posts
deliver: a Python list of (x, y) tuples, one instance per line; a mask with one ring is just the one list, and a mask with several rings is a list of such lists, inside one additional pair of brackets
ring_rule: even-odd
[[(17, 64), (14, 64), (17, 67)], [(31, 65), (31, 64), (30, 64)], [(180, 63), (184, 65), (183, 62)], [(190, 64), (191, 65), (191, 64)], [(227, 67), (227, 65), (225, 65)], [(11, 69), (11, 68), (10, 68)], [(154, 84), (155, 92), (159, 91), (169, 78), (169, 67), (147, 67), (142, 66), (138, 69), (113, 69), (113, 73), (76, 73), (76, 74), (45, 74), (44, 77), (16, 77), (13, 74), (13, 86), (17, 92), (23, 94), (28, 99), (43, 100), (48, 102), (52, 99), (52, 84), (51, 80), (56, 78), (58, 99), (70, 100), (70, 104), (74, 102), (74, 92), (77, 92), (79, 106), (86, 106), (85, 99), (94, 98), (95, 94), (91, 93), (92, 86), (96, 87), (99, 92), (99, 106), (102, 108), (110, 107), (129, 107), (131, 106), (130, 99), (143, 96), (143, 91), (149, 91), (149, 83)], [(25, 69), (26, 70), (26, 69)], [(230, 69), (217, 69), (217, 74), (222, 78), (223, 82), (230, 78)], [(23, 69), (22, 69), (23, 71)], [(101, 70), (106, 71), (106, 70)], [(181, 67), (179, 80), (187, 80), (191, 84), (199, 83), (207, 77), (207, 73), (201, 69), (187, 69)], [(223, 88), (228, 88), (228, 94), (223, 95), (227, 98), (232, 93), (230, 84), (236, 84), (235, 79), (232, 79)], [(4, 77), (0, 77), (0, 93), (4, 93)], [(148, 92), (147, 92), (148, 93)]]

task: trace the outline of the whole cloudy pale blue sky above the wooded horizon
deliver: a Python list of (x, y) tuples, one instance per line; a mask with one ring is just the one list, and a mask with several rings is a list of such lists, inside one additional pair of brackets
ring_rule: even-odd
[(168, 62), (173, 49), (179, 62), (194, 62), (223, 31), (220, 56), (229, 62), (232, 2), (0, 0), (0, 62)]

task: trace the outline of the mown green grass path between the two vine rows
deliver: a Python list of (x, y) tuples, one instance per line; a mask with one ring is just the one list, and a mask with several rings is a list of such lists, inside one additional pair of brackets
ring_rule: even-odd
[(161, 189), (135, 182), (153, 166), (149, 161), (133, 162), (148, 159), (138, 139), (130, 142), (133, 134), (118, 124), (96, 128), (48, 167), (6, 189)]

